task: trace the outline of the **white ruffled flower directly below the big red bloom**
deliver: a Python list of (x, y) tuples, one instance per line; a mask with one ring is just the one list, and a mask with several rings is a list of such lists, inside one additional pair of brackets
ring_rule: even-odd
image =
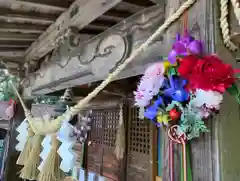
[(195, 98), (192, 100), (193, 107), (201, 108), (206, 107), (208, 109), (220, 109), (220, 104), (223, 100), (223, 95), (216, 91), (204, 91), (197, 89), (195, 92)]

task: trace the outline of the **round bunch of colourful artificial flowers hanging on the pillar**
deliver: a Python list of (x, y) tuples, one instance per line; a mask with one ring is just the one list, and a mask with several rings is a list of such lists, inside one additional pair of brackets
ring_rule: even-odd
[(135, 105), (157, 126), (178, 125), (177, 135), (190, 140), (208, 131), (205, 120), (218, 113), (224, 92), (239, 95), (234, 73), (217, 55), (204, 55), (199, 40), (178, 35), (168, 60), (145, 71)]

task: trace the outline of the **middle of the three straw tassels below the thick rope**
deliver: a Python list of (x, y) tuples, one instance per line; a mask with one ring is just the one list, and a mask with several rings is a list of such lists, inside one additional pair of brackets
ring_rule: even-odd
[(40, 152), (41, 152), (41, 143), (44, 136), (34, 135), (32, 139), (32, 149), (29, 153), (29, 157), (24, 164), (23, 169), (21, 170), (20, 178), (27, 180), (37, 180), (39, 170), (38, 166), (40, 164)]

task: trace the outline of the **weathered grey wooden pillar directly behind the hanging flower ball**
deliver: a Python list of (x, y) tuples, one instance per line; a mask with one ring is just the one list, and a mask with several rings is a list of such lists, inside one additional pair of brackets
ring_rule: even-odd
[[(185, 2), (185, 0), (168, 0), (166, 3), (166, 16), (173, 14), (175, 9), (178, 9), (180, 4)], [(188, 30), (195, 38), (203, 41), (205, 50), (208, 53), (215, 52), (215, 39), (214, 39), (214, 26), (215, 23), (215, 12), (213, 12), (215, 1), (213, 0), (201, 0), (197, 1), (193, 7), (189, 9), (188, 13)], [(178, 21), (170, 27), (166, 32), (165, 38), (168, 42), (166, 46), (171, 45), (174, 42), (176, 33), (182, 32), (181, 20)], [(169, 47), (169, 50), (171, 47)], [(206, 122), (210, 133), (201, 134), (200, 138), (194, 139), (191, 141), (191, 159), (192, 159), (192, 170), (193, 170), (193, 181), (199, 180), (211, 180), (219, 181), (217, 175), (217, 159), (215, 158), (218, 150), (217, 147), (217, 137), (216, 137), (216, 128), (214, 126), (217, 122), (215, 120), (210, 120)], [(163, 163), (163, 180), (169, 181), (169, 168), (168, 168), (168, 138), (165, 135), (165, 144), (164, 144), (164, 163)], [(179, 155), (179, 145), (176, 145), (174, 148), (174, 158), (175, 160), (175, 180), (179, 180), (179, 169), (180, 169), (180, 155)], [(228, 180), (228, 179), (223, 179)]]

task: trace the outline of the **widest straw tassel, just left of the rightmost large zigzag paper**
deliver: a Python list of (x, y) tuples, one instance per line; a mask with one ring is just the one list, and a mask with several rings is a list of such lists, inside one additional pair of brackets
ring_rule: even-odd
[(58, 181), (64, 177), (63, 171), (59, 168), (61, 158), (57, 153), (60, 142), (56, 135), (52, 136), (52, 149), (46, 158), (44, 166), (39, 174), (38, 181)]

